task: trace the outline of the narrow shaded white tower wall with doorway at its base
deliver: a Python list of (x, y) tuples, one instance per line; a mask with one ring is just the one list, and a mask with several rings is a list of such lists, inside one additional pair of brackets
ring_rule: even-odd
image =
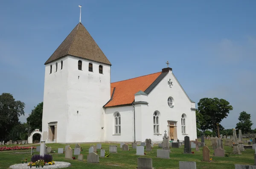
[[(63, 68), (61, 70), (61, 61)], [(56, 71), (55, 63), (58, 63)], [(52, 73), (50, 74), (50, 65)], [(48, 123), (57, 123), (57, 142), (66, 142), (67, 130), (67, 57), (45, 65), (44, 76), (44, 107), (42, 118), (42, 133), (48, 133)]]

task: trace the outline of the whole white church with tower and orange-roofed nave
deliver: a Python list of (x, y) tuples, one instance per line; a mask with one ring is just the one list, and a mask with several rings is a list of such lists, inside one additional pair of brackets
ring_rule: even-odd
[(79, 23), (45, 62), (47, 143), (197, 138), (195, 102), (172, 68), (111, 83), (111, 62)]

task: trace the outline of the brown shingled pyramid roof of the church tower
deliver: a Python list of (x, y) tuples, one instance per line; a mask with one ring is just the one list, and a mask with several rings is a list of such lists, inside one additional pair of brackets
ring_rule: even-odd
[(70, 32), (52, 56), (45, 62), (45, 65), (67, 55), (111, 65), (108, 58), (103, 54), (81, 23), (76, 25), (73, 31)]

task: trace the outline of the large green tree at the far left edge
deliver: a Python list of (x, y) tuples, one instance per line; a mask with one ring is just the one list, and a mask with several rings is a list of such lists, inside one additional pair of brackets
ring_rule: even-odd
[(10, 138), (11, 130), (19, 125), (19, 117), (24, 115), (25, 104), (15, 101), (10, 93), (0, 95), (0, 140)]

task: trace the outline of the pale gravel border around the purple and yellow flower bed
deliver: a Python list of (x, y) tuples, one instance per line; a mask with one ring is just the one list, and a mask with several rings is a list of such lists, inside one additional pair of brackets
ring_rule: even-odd
[[(71, 163), (63, 162), (63, 161), (55, 161), (54, 165), (48, 165), (44, 166), (44, 168), (51, 168), (51, 169), (59, 169), (59, 168), (67, 168), (71, 166)], [(34, 169), (35, 166), (32, 166), (32, 169)], [(41, 168), (41, 167), (40, 167)], [(30, 169), (30, 166), (28, 166), (27, 163), (20, 163), (10, 166), (10, 169)]]

